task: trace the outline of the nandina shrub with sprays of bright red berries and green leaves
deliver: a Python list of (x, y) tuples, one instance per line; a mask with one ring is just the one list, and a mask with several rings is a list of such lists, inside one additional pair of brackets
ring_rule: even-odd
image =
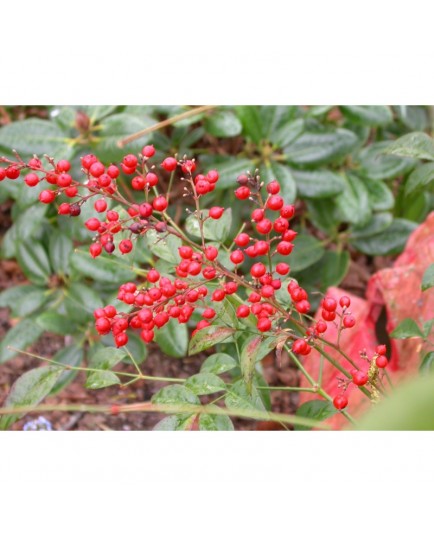
[[(202, 206), (203, 198), (216, 187), (218, 170), (198, 174), (195, 161), (186, 157), (168, 156), (155, 164), (154, 155), (154, 147), (147, 145), (138, 155), (126, 154), (119, 165), (106, 165), (88, 154), (81, 159), (80, 178), (71, 176), (68, 160), (55, 161), (49, 156), (41, 160), (34, 156), (26, 162), (17, 153), (14, 159), (1, 158), (5, 165), (0, 168), (0, 180), (23, 176), (29, 188), (45, 184), (39, 201), (55, 204), (59, 217), (76, 218), (85, 204), (92, 204), (94, 215), (85, 221), (85, 226), (93, 233), (89, 255), (95, 267), (100, 257), (116, 262), (119, 256), (131, 256), (148, 248), (160, 259), (157, 263), (151, 261), (146, 270), (137, 270), (134, 280), (125, 281), (119, 287), (116, 303), (98, 307), (93, 313), (96, 336), (110, 335), (116, 348), (100, 348), (86, 367), (41, 358), (50, 365), (33, 369), (17, 380), (2, 410), (2, 427), (10, 426), (50, 394), (65, 369), (87, 371), (86, 385), (91, 389), (123, 380), (123, 385), (139, 379), (167, 382), (169, 385), (150, 403), (99, 408), (113, 414), (131, 410), (172, 414), (161, 421), (159, 429), (227, 430), (232, 428), (231, 415), (312, 427), (321, 426), (320, 420), (337, 411), (353, 422), (346, 409), (345, 390), (353, 382), (366, 396), (378, 399), (387, 366), (385, 347), (379, 346), (374, 356), (366, 356), (366, 370), (356, 367), (341, 350), (341, 332), (356, 324), (346, 296), (339, 302), (323, 299), (321, 320), (315, 322), (309, 315), (308, 293), (290, 275), (290, 255), (297, 235), (291, 228), (295, 207), (281, 195), (281, 184), (277, 180), (264, 184), (257, 172), (238, 176), (234, 195), (250, 205), (251, 220), (243, 223), (227, 245), (231, 208)], [(161, 181), (161, 173), (168, 180)], [(117, 185), (120, 176), (128, 177), (131, 187), (142, 192), (141, 203), (123, 195)], [(168, 211), (173, 201), (178, 202), (171, 195), (174, 181), (184, 185), (189, 212), (182, 227)], [(168, 184), (165, 192), (163, 183)], [(330, 322), (339, 328), (338, 339), (333, 343), (324, 338)], [(131, 334), (138, 333), (149, 344), (164, 326), (191, 323), (194, 329), (189, 353), (217, 349), (204, 359), (200, 372), (187, 380), (143, 375), (140, 356), (134, 356), (127, 348)], [(339, 350), (351, 365), (350, 370), (334, 361), (327, 346)], [(232, 351), (222, 352), (222, 348)], [(342, 390), (334, 398), (321, 386), (321, 377), (312, 378), (303, 367), (312, 349), (336, 366), (336, 381)], [(266, 355), (275, 352), (279, 359), (283, 351), (306, 376), (310, 387), (305, 390), (316, 393), (319, 399), (304, 404), (295, 416), (269, 411), (270, 388), (259, 374), (260, 361)], [(134, 372), (113, 370), (126, 356)], [(230, 373), (229, 381), (221, 377), (224, 373)], [(340, 377), (342, 373), (345, 378)], [(203, 395), (207, 395), (206, 402), (199, 398)], [(225, 408), (216, 404), (222, 399)]]

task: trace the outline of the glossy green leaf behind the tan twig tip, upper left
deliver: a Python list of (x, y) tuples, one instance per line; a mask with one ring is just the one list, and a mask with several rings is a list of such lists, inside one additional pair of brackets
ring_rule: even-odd
[[(122, 160), (126, 149), (121, 149), (118, 146), (118, 142), (122, 138), (144, 130), (153, 124), (155, 124), (155, 120), (150, 117), (137, 117), (126, 113), (111, 115), (103, 119), (100, 123), (100, 138), (96, 149), (98, 157), (107, 163)], [(150, 139), (151, 134), (147, 134), (129, 143), (127, 146), (128, 152), (132, 154), (139, 153)]]

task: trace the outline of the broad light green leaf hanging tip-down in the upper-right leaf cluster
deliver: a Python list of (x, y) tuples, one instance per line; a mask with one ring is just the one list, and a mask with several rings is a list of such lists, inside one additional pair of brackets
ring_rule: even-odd
[(353, 173), (343, 174), (345, 187), (336, 198), (342, 221), (364, 225), (371, 218), (368, 192), (363, 181)]

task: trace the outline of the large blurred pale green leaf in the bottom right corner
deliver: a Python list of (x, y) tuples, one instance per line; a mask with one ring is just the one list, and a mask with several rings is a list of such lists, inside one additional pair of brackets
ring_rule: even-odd
[(434, 430), (434, 375), (418, 376), (394, 389), (359, 421), (359, 430)]

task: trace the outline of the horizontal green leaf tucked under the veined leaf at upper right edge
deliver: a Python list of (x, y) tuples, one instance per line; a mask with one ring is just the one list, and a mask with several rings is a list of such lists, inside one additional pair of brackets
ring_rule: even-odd
[(381, 141), (368, 145), (360, 151), (357, 163), (360, 173), (371, 180), (385, 180), (405, 175), (415, 165), (416, 161), (410, 158), (402, 158), (392, 154), (385, 154), (391, 142)]

